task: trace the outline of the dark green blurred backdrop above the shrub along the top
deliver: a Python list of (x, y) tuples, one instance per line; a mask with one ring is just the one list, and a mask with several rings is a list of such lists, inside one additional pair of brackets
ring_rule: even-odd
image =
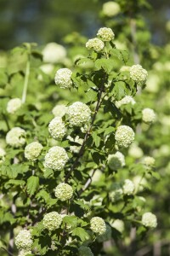
[[(99, 11), (105, 0), (0, 0), (0, 49), (23, 42), (63, 43), (71, 32), (89, 37), (102, 25)], [(144, 10), (152, 43), (167, 44), (170, 36), (169, 0), (150, 0)]]

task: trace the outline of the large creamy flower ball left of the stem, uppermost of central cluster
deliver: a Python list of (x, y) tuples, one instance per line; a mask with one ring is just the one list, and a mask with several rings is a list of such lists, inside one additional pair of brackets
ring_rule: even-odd
[(87, 124), (91, 117), (91, 110), (82, 102), (74, 102), (67, 111), (71, 125), (81, 126)]

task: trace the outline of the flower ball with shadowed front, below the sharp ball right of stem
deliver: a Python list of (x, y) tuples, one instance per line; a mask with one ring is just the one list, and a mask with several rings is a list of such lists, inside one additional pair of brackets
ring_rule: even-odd
[(117, 151), (116, 154), (109, 154), (107, 161), (108, 161), (108, 166), (113, 171), (125, 166), (125, 157), (119, 151)]

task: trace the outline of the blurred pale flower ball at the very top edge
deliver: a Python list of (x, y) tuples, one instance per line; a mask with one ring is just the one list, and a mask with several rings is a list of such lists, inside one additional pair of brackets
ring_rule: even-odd
[(103, 14), (108, 17), (116, 16), (120, 13), (121, 8), (118, 3), (109, 1), (103, 4)]

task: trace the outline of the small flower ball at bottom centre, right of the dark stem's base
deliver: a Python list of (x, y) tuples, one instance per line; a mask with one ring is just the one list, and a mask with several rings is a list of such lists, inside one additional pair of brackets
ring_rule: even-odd
[(105, 234), (105, 221), (103, 218), (94, 217), (90, 220), (90, 229), (94, 231), (97, 235)]

